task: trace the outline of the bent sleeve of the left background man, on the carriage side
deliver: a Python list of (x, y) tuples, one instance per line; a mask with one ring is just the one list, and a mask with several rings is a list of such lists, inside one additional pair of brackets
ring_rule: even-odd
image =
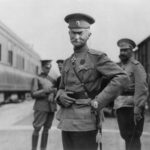
[(39, 89), (38, 78), (33, 78), (32, 86), (31, 86), (31, 95), (32, 98), (45, 98), (47, 95), (45, 94), (43, 89)]

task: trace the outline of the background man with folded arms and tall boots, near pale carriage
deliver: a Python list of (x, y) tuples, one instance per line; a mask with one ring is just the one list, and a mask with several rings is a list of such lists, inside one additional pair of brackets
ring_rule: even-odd
[(51, 69), (51, 60), (42, 60), (41, 64), (42, 72), (32, 82), (31, 93), (33, 98), (35, 98), (32, 150), (37, 150), (39, 131), (42, 127), (40, 147), (41, 150), (46, 150), (48, 131), (51, 128), (54, 112), (56, 111), (54, 80), (48, 75)]

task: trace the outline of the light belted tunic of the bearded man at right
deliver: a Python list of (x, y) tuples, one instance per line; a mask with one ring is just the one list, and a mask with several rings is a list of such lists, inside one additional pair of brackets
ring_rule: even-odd
[(119, 64), (130, 78), (129, 86), (115, 100), (114, 108), (134, 107), (135, 111), (143, 109), (148, 96), (146, 73), (137, 60), (131, 58), (126, 65)]

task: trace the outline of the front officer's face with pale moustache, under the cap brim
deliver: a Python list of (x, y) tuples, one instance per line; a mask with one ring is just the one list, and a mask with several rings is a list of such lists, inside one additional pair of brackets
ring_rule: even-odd
[(88, 29), (70, 29), (69, 35), (72, 45), (78, 48), (86, 44), (91, 33)]

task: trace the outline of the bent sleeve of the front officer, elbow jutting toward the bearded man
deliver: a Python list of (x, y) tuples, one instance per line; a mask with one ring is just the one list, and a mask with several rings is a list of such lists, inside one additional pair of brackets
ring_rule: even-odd
[(97, 56), (96, 69), (100, 74), (110, 79), (108, 85), (96, 96), (95, 100), (99, 103), (99, 108), (105, 107), (126, 88), (129, 84), (127, 74), (114, 62), (112, 62), (106, 54)]

